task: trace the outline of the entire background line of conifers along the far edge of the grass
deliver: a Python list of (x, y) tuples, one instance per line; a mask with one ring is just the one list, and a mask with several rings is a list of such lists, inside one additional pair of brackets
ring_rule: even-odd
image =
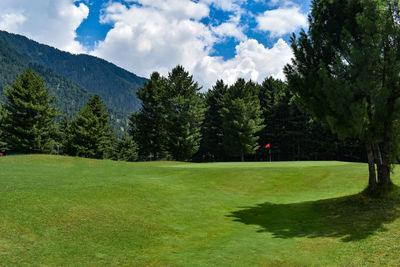
[[(137, 92), (141, 109), (117, 137), (98, 95), (69, 119), (54, 106), (39, 74), (22, 72), (0, 103), (0, 151), (55, 153), (113, 160), (351, 160), (362, 144), (339, 140), (300, 111), (285, 82), (222, 80), (201, 88), (182, 66), (155, 72)], [(265, 146), (269, 144), (268, 148)]]

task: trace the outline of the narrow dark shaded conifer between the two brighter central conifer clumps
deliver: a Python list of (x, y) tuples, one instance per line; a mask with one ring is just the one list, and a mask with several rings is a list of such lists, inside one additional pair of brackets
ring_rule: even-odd
[(222, 100), (228, 91), (228, 86), (222, 80), (206, 93), (207, 111), (202, 126), (202, 140), (198, 157), (206, 161), (223, 161), (226, 159), (223, 147)]

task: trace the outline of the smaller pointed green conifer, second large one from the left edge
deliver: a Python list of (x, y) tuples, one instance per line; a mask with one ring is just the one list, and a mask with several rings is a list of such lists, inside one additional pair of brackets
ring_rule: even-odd
[[(65, 123), (64, 123), (65, 125)], [(65, 126), (63, 126), (65, 128)], [(94, 95), (79, 111), (66, 130), (65, 152), (91, 158), (113, 158), (113, 132), (109, 115), (98, 95)]]

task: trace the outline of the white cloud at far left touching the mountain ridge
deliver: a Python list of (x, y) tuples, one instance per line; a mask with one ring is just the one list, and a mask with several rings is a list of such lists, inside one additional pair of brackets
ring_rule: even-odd
[(89, 8), (74, 0), (1, 0), (0, 29), (25, 35), (72, 53), (85, 49), (75, 40), (76, 29)]

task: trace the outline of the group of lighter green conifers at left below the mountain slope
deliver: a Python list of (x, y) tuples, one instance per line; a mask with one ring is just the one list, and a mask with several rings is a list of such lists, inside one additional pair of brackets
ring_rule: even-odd
[(22, 72), (4, 91), (0, 103), (0, 150), (20, 153), (62, 153), (67, 155), (136, 160), (136, 144), (131, 137), (117, 139), (109, 115), (98, 95), (94, 95), (72, 121), (52, 105), (43, 79), (31, 69)]

